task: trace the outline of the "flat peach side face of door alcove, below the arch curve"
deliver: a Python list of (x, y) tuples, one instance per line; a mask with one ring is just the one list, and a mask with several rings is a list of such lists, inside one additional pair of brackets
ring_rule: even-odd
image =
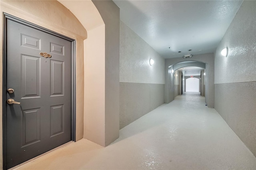
[(90, 49), (84, 53), (84, 138), (101, 146), (105, 145), (104, 30), (104, 25), (90, 30), (91, 39), (84, 40), (84, 49)]

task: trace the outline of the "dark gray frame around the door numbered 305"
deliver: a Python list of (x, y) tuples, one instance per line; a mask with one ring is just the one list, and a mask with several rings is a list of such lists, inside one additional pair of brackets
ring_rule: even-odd
[(61, 34), (58, 34), (56, 32), (53, 32), (51, 30), (48, 30), (46, 28), (43, 28), (41, 26), (38, 26), (36, 24), (33, 24), (31, 22), (27, 22), (25, 20), (22, 20), (20, 18), (17, 18), (15, 16), (12, 16), (10, 14), (6, 14), (4, 13), (3, 15), (3, 25), (4, 25), (4, 29), (3, 29), (3, 79), (2, 79), (2, 83), (3, 83), (3, 89), (2, 89), (2, 93), (3, 93), (3, 124), (2, 124), (2, 128), (3, 128), (3, 169), (6, 169), (5, 164), (6, 164), (6, 160), (5, 160), (5, 155), (6, 155), (6, 129), (5, 129), (5, 125), (6, 125), (6, 20), (12, 20), (14, 22), (18, 22), (20, 24), (23, 24), (25, 26), (29, 26), (31, 28), (34, 28), (36, 30), (40, 30), (42, 32), (46, 32), (48, 34), (51, 34), (53, 36), (57, 36), (59, 38), (63, 38), (65, 40), (68, 40), (70, 42), (72, 42), (72, 103), (71, 103), (71, 139), (72, 141), (76, 141), (76, 40), (72, 39), (72, 38), (68, 38), (66, 36), (63, 36)]

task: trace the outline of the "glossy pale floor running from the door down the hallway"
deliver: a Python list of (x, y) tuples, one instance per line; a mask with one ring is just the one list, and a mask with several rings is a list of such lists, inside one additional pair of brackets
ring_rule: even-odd
[(199, 93), (185, 93), (120, 130), (106, 148), (82, 139), (17, 169), (256, 169), (256, 158)]

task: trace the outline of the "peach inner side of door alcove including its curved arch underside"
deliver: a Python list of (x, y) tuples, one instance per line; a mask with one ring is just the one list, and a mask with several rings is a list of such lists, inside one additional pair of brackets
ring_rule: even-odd
[[(101, 14), (92, 1), (58, 1), (66, 6), (87, 30), (88, 38), (84, 40), (84, 119), (80, 121), (84, 122), (84, 138), (105, 146), (105, 121), (107, 119), (105, 116), (106, 27)], [(99, 5), (104, 7), (103, 3)], [(111, 44), (108, 43), (110, 46)], [(115, 132), (115, 134), (117, 133)]]

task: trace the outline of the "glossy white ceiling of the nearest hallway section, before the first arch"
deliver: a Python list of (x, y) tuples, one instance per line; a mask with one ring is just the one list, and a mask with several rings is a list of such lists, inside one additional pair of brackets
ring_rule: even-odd
[(242, 1), (114, 0), (114, 3), (127, 26), (162, 57), (174, 58), (214, 52)]

